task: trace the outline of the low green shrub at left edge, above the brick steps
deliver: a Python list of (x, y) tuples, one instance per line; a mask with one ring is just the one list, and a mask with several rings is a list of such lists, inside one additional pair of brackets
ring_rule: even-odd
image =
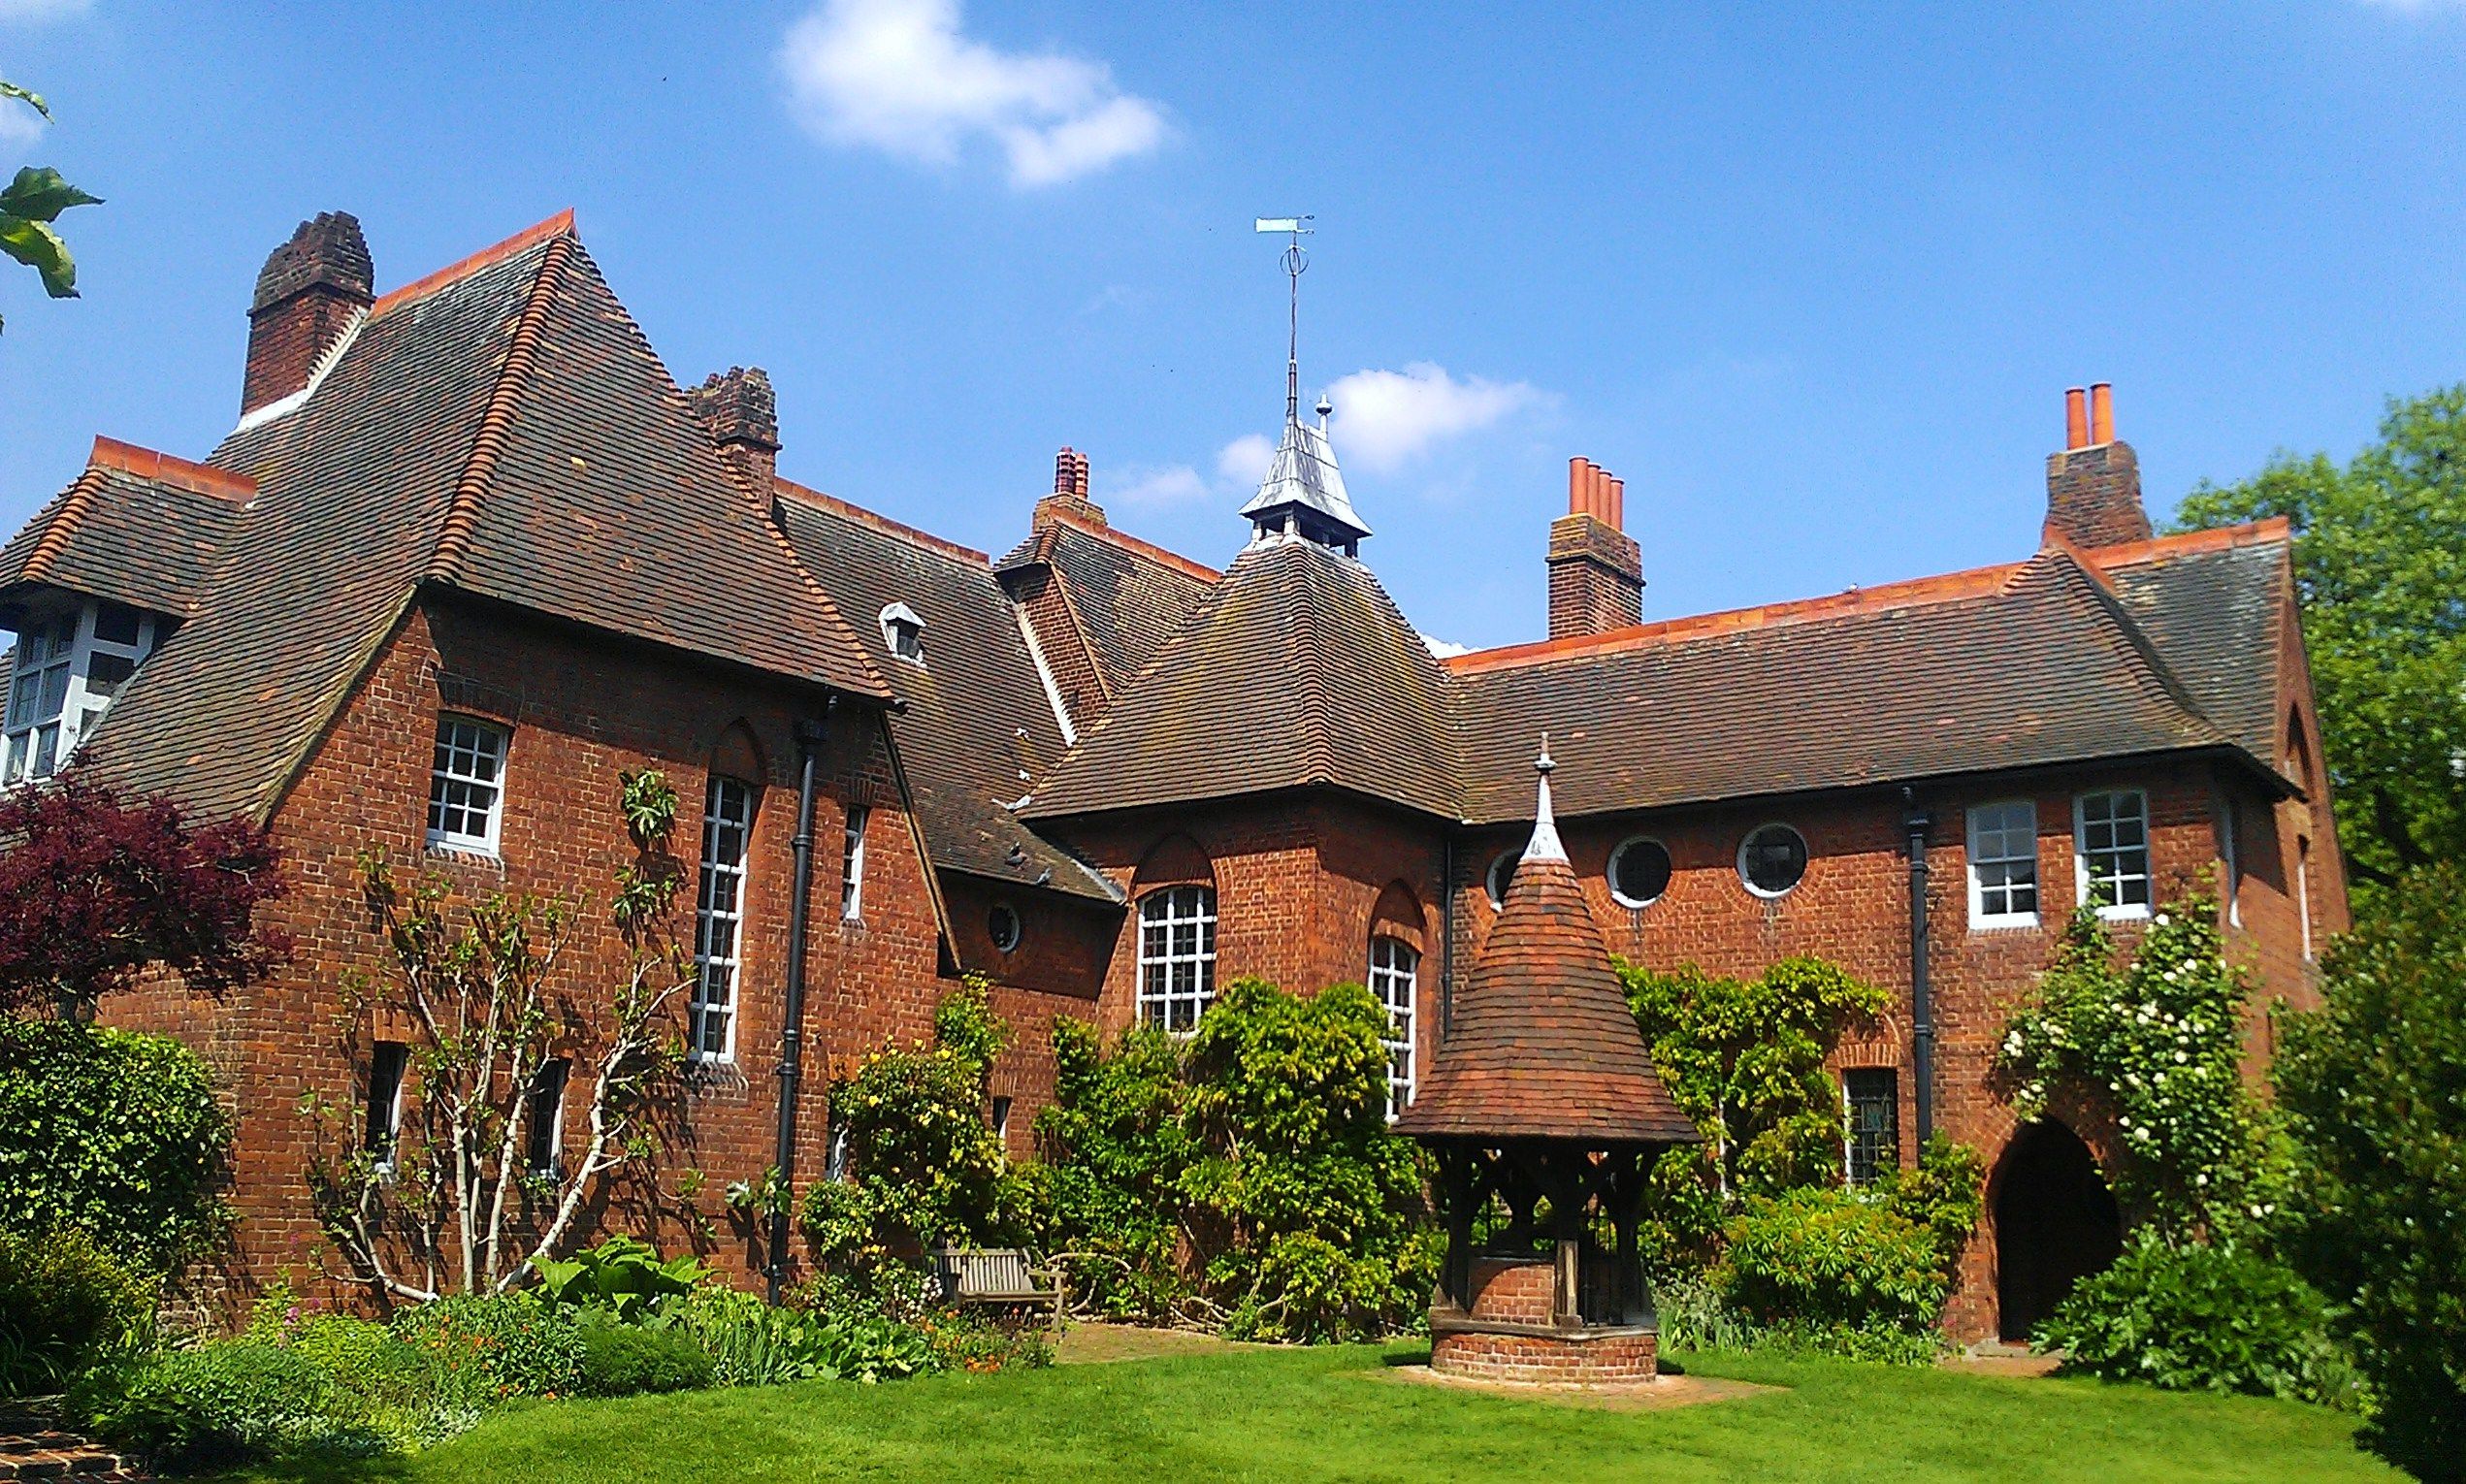
[(0, 1395), (59, 1390), (153, 1329), (155, 1284), (76, 1228), (0, 1233)]

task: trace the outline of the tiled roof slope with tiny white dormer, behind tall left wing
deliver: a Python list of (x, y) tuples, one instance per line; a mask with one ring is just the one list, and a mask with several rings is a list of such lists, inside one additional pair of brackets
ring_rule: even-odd
[[(777, 481), (777, 493), (797, 557), (846, 604), (873, 666), (907, 703), (890, 732), (935, 865), (1120, 902), (1112, 883), (1009, 809), (1060, 757), (1063, 740), (984, 552), (789, 481)], [(893, 604), (925, 621), (922, 666), (893, 656), (870, 621)]]

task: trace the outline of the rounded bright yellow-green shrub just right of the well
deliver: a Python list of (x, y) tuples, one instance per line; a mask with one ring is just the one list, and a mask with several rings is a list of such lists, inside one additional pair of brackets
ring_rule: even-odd
[(1923, 1331), (1948, 1279), (1936, 1237), (1857, 1191), (1790, 1191), (1751, 1201), (1729, 1225), (1724, 1297), (1763, 1326), (1810, 1336), (1850, 1329)]

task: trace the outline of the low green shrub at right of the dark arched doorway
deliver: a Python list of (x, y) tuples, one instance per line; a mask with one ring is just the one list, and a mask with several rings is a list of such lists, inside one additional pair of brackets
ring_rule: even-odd
[(2328, 1339), (2328, 1304), (2249, 1247), (2170, 1247), (2140, 1233), (2084, 1277), (2032, 1336), (2064, 1371), (2165, 1390), (2242, 1390), (2353, 1403), (2353, 1368)]

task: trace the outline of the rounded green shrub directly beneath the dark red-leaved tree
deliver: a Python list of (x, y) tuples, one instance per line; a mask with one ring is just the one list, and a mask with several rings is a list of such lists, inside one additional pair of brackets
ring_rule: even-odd
[(0, 1230), (76, 1228), (165, 1272), (227, 1223), (232, 1127), (205, 1058), (168, 1035), (0, 1016)]

